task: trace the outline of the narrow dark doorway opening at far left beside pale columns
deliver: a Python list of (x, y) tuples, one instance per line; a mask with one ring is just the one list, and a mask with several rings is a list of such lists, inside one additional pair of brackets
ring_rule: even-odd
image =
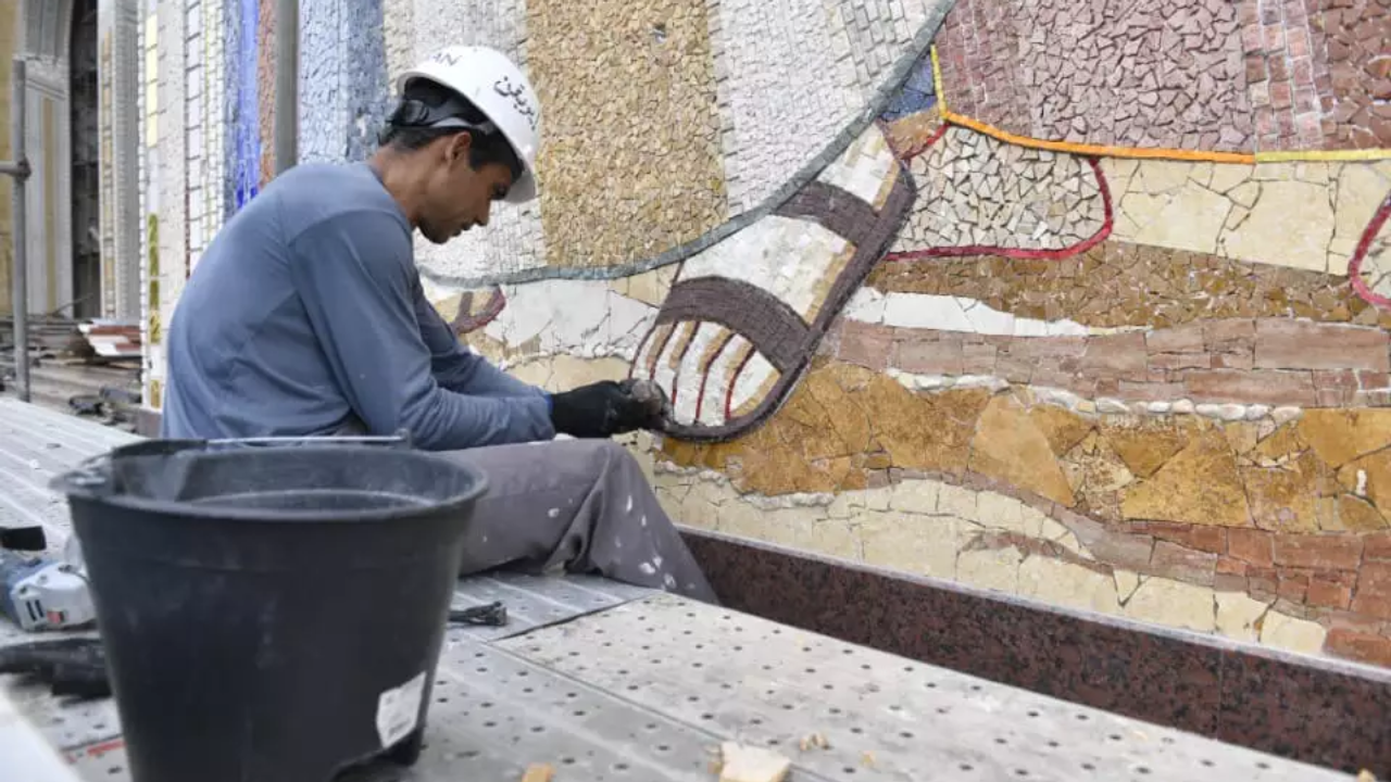
[(72, 308), (75, 319), (102, 316), (100, 131), (97, 127), (96, 0), (72, 3), (68, 54), (72, 111)]

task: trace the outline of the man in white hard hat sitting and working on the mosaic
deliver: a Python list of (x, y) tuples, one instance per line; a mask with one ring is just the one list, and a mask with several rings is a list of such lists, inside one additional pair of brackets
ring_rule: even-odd
[[(412, 234), (445, 244), (536, 198), (540, 106), (485, 47), (401, 81), (366, 163), (302, 164), (211, 241), (168, 324), (164, 437), (392, 434), (483, 470), (460, 573), (563, 568), (714, 601), (633, 456), (654, 429), (618, 383), (548, 394), (462, 346)], [(576, 440), (555, 440), (568, 434)]]

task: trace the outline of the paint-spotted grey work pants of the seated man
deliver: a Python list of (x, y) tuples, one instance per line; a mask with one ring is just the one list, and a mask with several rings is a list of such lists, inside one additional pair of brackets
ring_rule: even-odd
[(499, 566), (598, 573), (716, 603), (632, 454), (611, 440), (447, 451), (488, 477), (460, 575)]

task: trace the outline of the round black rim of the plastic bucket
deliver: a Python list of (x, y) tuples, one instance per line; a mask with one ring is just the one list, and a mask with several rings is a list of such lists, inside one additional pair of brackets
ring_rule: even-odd
[[(118, 454), (121, 448), (114, 448), (107, 454), (103, 454), (97, 459), (106, 461), (108, 463), (110, 456)], [(310, 452), (310, 454), (341, 454), (344, 445), (300, 445), (295, 448), (296, 452)], [(363, 508), (363, 509), (335, 509), (335, 511), (277, 511), (280, 518), (266, 518), (264, 509), (256, 508), (238, 508), (227, 505), (199, 505), (193, 502), (178, 502), (170, 500), (152, 500), (146, 497), (135, 497), (129, 494), (114, 494), (104, 491), (107, 487), (106, 481), (102, 480), (97, 473), (93, 472), (92, 462), (86, 462), (72, 470), (56, 476), (50, 483), (50, 488), (64, 494), (64, 497), (71, 504), (74, 500), (96, 502), (108, 506), (117, 506), (131, 511), (147, 512), (147, 513), (161, 513), (161, 515), (178, 515), (184, 518), (200, 519), (200, 520), (235, 520), (235, 522), (259, 522), (266, 525), (284, 525), (284, 523), (363, 523), (363, 522), (389, 522), (410, 518), (417, 518), (428, 513), (435, 513), (440, 511), (456, 509), (472, 502), (476, 502), (488, 490), (487, 474), (474, 465), (465, 462), (455, 462), (445, 459), (438, 454), (430, 451), (419, 451), (415, 448), (408, 448), (405, 452), (410, 454), (409, 458), (420, 459), (434, 459), (448, 463), (451, 468), (462, 470), (470, 479), (470, 486), (467, 490), (460, 491), (445, 500), (431, 502), (426, 506), (394, 506), (394, 508)], [(330, 490), (332, 491), (332, 490)], [(344, 490), (351, 491), (351, 490)]]

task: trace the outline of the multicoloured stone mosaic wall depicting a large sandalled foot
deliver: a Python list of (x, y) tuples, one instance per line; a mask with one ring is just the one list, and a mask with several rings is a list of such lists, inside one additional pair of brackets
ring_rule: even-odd
[[(228, 138), (161, 164), (225, 216), (271, 22), (221, 1)], [(441, 45), (524, 63), (542, 198), (417, 262), (519, 377), (661, 381), (683, 523), (1391, 665), (1388, 15), (306, 0), (300, 146), (362, 159)]]

